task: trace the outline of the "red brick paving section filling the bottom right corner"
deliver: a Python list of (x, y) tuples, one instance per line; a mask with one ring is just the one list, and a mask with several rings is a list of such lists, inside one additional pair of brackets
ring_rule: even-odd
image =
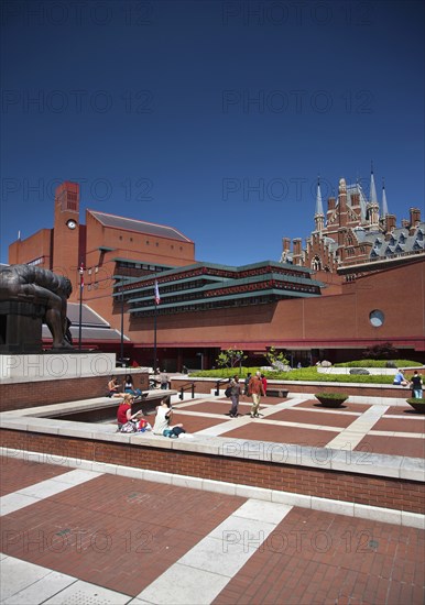
[(214, 603), (418, 605), (424, 538), (415, 529), (294, 508)]

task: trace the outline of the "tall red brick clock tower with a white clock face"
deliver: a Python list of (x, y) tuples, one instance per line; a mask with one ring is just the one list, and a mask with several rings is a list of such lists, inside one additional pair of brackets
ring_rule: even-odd
[(73, 294), (69, 300), (76, 299), (78, 293), (79, 232), (79, 185), (66, 180), (55, 191), (52, 270), (70, 279)]

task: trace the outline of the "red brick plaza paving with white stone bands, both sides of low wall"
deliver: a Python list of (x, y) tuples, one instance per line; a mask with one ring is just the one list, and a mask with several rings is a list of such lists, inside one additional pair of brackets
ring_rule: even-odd
[[(402, 402), (264, 398), (260, 419), (248, 398), (236, 419), (208, 394), (173, 405), (197, 437), (425, 458), (424, 417)], [(1, 458), (1, 603), (424, 602), (421, 527), (52, 460)]]

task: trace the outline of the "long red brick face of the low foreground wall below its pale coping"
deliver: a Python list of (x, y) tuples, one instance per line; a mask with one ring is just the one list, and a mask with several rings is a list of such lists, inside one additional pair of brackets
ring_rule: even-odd
[(0, 430), (0, 442), (41, 452), (46, 462), (48, 454), (70, 457), (411, 513), (424, 509), (425, 485), (408, 480), (9, 429)]

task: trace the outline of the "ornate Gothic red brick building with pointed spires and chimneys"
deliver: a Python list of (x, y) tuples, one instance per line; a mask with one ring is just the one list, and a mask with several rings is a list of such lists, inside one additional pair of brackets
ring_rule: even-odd
[[(302, 248), (301, 238), (283, 239), (281, 261), (315, 272), (358, 276), (362, 266), (386, 260), (422, 255), (425, 251), (425, 222), (421, 210), (410, 209), (410, 218), (396, 227), (396, 217), (389, 212), (385, 188), (380, 208), (373, 172), (369, 200), (360, 184), (347, 185), (341, 178), (338, 198), (330, 197), (325, 217), (320, 184), (317, 184), (315, 229)], [(368, 271), (370, 271), (370, 268)]]

